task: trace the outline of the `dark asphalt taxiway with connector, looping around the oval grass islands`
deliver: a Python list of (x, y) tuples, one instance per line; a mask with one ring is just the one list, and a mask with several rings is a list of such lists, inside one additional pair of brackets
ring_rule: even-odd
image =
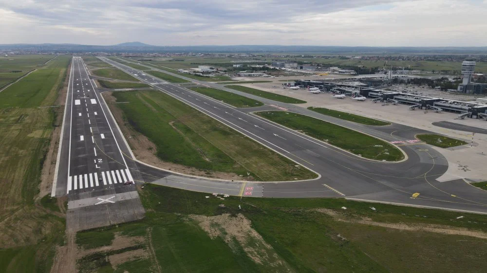
[[(143, 177), (145, 181), (209, 193), (218, 192), (217, 189), (220, 188), (222, 191), (228, 190), (225, 193), (235, 195), (236, 189), (240, 189), (238, 195), (243, 195), (248, 188), (251, 196), (346, 197), (487, 213), (487, 195), (484, 191), (468, 185), (463, 180), (442, 183), (435, 180), (446, 172), (448, 162), (429, 145), (414, 142), (415, 134), (427, 133), (427, 131), (400, 124), (381, 127), (356, 124), (323, 116), (295, 105), (277, 103), (226, 89), (221, 85), (189, 79), (199, 84), (258, 99), (266, 104), (266, 108), (263, 109), (286, 109), (395, 142), (400, 145), (408, 157), (407, 160), (399, 163), (367, 160), (252, 115), (250, 112), (255, 109), (235, 108), (182, 86), (146, 75), (143, 71), (122, 63), (106, 58), (101, 59), (320, 174), (318, 179), (311, 181), (243, 184), (205, 178), (188, 178), (145, 166)], [(159, 71), (168, 73), (163, 70)], [(172, 75), (181, 77), (176, 74)], [(140, 164), (138, 167), (141, 168)], [(416, 198), (412, 197), (415, 193), (419, 193)]]

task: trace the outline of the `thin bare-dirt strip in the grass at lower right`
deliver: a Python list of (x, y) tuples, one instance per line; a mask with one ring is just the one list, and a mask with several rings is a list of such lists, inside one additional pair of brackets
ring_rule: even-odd
[(335, 220), (340, 222), (371, 225), (371, 226), (378, 226), (378, 227), (404, 230), (404, 231), (425, 231), (425, 232), (432, 232), (432, 233), (439, 233), (439, 234), (463, 235), (463, 236), (471, 236), (476, 238), (487, 239), (487, 233), (480, 232), (480, 231), (472, 231), (465, 228), (454, 228), (449, 226), (432, 225), (432, 224), (381, 223), (381, 222), (375, 222), (368, 217), (361, 217), (359, 219), (346, 219), (344, 215), (340, 215), (338, 212), (329, 209), (316, 209), (316, 211), (330, 215)]

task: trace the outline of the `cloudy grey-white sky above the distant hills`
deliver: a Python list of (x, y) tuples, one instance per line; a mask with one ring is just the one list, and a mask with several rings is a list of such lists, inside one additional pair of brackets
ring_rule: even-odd
[(487, 46), (487, 0), (0, 0), (0, 43)]

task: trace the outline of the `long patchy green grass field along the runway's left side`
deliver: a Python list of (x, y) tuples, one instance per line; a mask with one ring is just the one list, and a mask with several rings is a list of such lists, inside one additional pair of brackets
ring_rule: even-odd
[[(65, 219), (37, 196), (71, 56), (59, 56), (0, 93), (0, 272), (49, 272)], [(46, 107), (43, 107), (46, 106)]]

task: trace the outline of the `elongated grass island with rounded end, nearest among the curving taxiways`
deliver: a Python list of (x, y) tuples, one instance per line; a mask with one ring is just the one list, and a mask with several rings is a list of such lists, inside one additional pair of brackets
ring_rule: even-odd
[(387, 161), (404, 158), (399, 149), (383, 140), (314, 117), (281, 111), (255, 114), (364, 158)]

